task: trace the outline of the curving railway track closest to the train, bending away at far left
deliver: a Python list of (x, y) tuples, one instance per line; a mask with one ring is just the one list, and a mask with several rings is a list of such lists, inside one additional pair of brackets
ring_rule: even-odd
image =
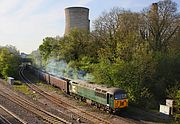
[[(71, 105), (70, 103), (61, 100), (60, 98), (57, 98), (45, 91), (43, 91), (42, 89), (40, 89), (39, 87), (37, 87), (35, 84), (33, 84), (28, 78), (26, 78), (26, 76), (23, 74), (23, 68), (21, 68), (20, 70), (20, 76), (21, 78), (23, 78), (23, 80), (25, 82), (27, 82), (27, 86), (36, 91), (37, 93), (39, 93), (40, 95), (42, 95), (43, 97), (45, 97), (46, 99), (50, 100), (51, 102), (55, 103), (56, 105), (67, 109), (68, 111), (71, 111), (71, 115), (73, 113), (73, 118), (75, 119), (80, 119), (83, 122), (86, 121), (88, 123), (105, 123), (105, 124), (111, 124), (111, 122), (109, 122), (108, 120), (104, 119), (104, 118), (100, 118), (97, 117), (89, 112), (86, 112), (82, 109), (79, 109), (76, 106)], [(31, 84), (31, 85), (30, 85)]]

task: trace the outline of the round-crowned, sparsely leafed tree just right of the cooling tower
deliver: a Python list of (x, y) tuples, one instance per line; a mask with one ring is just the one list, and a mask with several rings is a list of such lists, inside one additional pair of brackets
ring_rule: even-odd
[[(139, 13), (113, 8), (94, 21), (95, 41), (99, 54), (115, 62), (114, 58), (131, 59), (132, 48), (142, 42)], [(121, 49), (121, 50), (120, 50)], [(106, 52), (105, 52), (106, 51)], [(100, 55), (101, 56), (101, 55)]]

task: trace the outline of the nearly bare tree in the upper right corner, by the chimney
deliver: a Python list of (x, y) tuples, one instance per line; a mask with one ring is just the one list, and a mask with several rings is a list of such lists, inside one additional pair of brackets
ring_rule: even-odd
[(177, 4), (171, 0), (154, 3), (144, 11), (143, 18), (142, 29), (151, 48), (155, 51), (167, 51), (179, 30), (180, 16), (177, 13)]

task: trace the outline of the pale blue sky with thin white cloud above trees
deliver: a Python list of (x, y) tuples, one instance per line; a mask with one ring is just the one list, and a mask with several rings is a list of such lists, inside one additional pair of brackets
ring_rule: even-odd
[[(20, 52), (36, 50), (45, 37), (63, 36), (64, 9), (90, 9), (91, 22), (103, 11), (121, 7), (141, 11), (158, 0), (0, 0), (0, 46), (13, 45)], [(180, 6), (180, 0), (174, 0)]]

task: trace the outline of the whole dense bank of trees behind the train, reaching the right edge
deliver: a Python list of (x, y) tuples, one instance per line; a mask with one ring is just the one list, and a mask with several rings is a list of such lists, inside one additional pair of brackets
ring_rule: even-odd
[(92, 73), (96, 83), (125, 89), (131, 103), (158, 105), (165, 89), (180, 81), (179, 21), (171, 0), (142, 13), (113, 8), (94, 21), (92, 32), (46, 38), (39, 50), (46, 60), (63, 59)]

